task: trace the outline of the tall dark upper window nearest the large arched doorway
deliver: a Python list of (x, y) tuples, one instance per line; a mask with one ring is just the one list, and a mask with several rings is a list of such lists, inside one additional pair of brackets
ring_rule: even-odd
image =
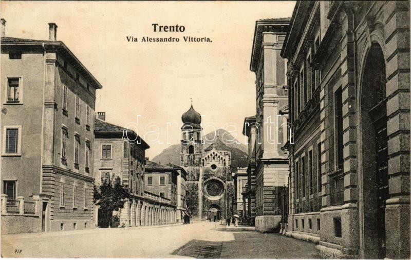
[(343, 156), (343, 100), (342, 100), (342, 91), (339, 88), (334, 93), (334, 111), (335, 111), (335, 158), (337, 159), (337, 168), (342, 169), (344, 164), (344, 156)]

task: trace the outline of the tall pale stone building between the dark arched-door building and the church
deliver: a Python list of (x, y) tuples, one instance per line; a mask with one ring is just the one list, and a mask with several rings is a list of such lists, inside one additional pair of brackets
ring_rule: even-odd
[(255, 166), (250, 170), (255, 167), (255, 228), (260, 232), (279, 230), (283, 205), (278, 196), (288, 182), (287, 153), (281, 149), (288, 132), (287, 62), (280, 56), (288, 24), (289, 18), (255, 24), (250, 63), (256, 78)]

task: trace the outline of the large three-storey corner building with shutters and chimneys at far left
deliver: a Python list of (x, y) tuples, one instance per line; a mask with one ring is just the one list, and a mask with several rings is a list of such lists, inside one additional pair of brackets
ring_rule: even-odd
[(92, 115), (102, 86), (57, 41), (57, 25), (41, 41), (6, 37), (5, 24), (2, 233), (94, 228)]

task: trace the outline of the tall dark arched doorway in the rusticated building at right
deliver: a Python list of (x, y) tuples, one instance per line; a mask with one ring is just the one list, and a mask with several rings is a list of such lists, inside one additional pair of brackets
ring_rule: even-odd
[[(362, 183), (362, 241), (365, 258), (384, 258), (385, 201), (388, 193), (388, 136), (385, 59), (373, 43), (363, 65), (360, 85), (359, 167)], [(361, 187), (360, 187), (361, 188)]]

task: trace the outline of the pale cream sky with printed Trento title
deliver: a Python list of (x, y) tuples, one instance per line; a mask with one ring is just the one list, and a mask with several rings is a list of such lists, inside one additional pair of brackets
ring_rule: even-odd
[[(247, 141), (241, 134), (244, 117), (256, 111), (255, 74), (250, 71), (255, 21), (290, 17), (295, 2), (0, 5), (6, 36), (48, 39), (48, 23), (56, 23), (57, 39), (103, 86), (96, 93), (96, 111), (106, 112), (108, 123), (128, 124), (132, 130), (137, 123), (139, 135), (151, 146), (146, 156), (153, 158), (170, 144), (179, 144), (181, 115), (191, 99), (203, 115), (206, 133), (226, 128), (239, 142)], [(178, 24), (185, 30), (154, 32), (152, 24)], [(127, 36), (138, 42), (127, 42)], [(179, 37), (180, 42), (141, 42), (143, 36)], [(183, 36), (209, 37), (212, 42), (186, 43)], [(167, 123), (176, 124), (167, 129)]]

